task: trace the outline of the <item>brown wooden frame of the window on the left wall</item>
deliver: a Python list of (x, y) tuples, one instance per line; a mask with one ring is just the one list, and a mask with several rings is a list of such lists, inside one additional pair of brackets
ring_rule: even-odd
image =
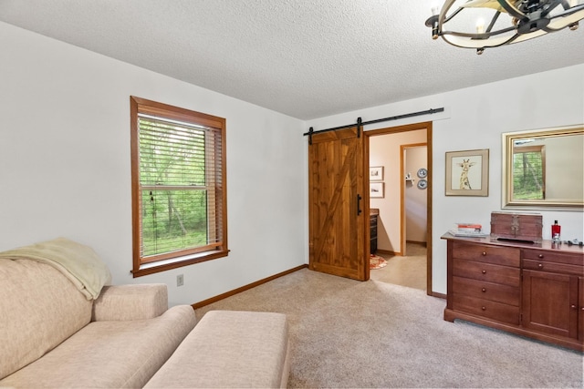
[[(141, 255), (141, 183), (140, 183), (140, 124), (139, 115), (145, 114), (157, 118), (178, 120), (194, 125), (212, 128), (214, 137), (220, 138), (220, 146), (214, 152), (215, 158), (207, 160), (213, 169), (211, 171), (219, 180), (214, 187), (215, 220), (217, 230), (213, 233), (222, 239), (216, 243), (209, 243), (197, 248), (183, 251), (171, 251), (148, 257)], [(132, 203), (132, 275), (140, 277), (159, 271), (167, 271), (202, 261), (214, 260), (228, 255), (227, 248), (227, 185), (225, 163), (225, 119), (192, 111), (182, 107), (173, 107), (167, 104), (147, 100), (141, 97), (130, 96), (130, 154), (131, 154), (131, 203)], [(219, 156), (219, 157), (217, 157)], [(217, 168), (217, 165), (220, 165)]]

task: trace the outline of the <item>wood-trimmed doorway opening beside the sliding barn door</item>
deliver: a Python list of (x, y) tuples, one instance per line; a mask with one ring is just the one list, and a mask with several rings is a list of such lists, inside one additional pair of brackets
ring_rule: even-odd
[(370, 277), (401, 284), (413, 274), (417, 286), (406, 286), (432, 295), (432, 122), (364, 135), (365, 160), (373, 171), (383, 170), (382, 180), (370, 177), (370, 186), (383, 188), (382, 196), (370, 197), (370, 210), (378, 213), (376, 253), (388, 259)]

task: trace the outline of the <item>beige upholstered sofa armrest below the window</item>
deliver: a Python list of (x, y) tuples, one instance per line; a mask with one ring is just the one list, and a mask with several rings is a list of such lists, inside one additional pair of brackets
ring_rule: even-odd
[(168, 310), (168, 291), (163, 283), (106, 285), (93, 302), (91, 321), (151, 319)]

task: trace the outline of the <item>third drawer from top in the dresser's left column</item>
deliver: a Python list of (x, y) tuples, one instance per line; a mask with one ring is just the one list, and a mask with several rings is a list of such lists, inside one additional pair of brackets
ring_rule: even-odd
[(453, 277), (453, 292), (491, 302), (502, 302), (516, 307), (519, 306), (518, 287), (473, 280), (470, 278)]

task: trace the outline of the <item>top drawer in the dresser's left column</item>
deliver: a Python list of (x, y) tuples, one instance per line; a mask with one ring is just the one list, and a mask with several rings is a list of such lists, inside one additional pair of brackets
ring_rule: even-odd
[(495, 247), (454, 241), (453, 258), (518, 268), (521, 261), (521, 251), (512, 247)]

